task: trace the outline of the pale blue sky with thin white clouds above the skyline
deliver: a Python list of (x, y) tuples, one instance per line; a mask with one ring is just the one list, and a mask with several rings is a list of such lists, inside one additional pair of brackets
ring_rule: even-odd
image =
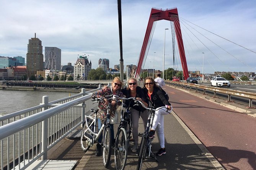
[[(0, 6), (0, 56), (26, 58), (28, 40), (36, 33), (43, 54), (44, 47), (62, 50), (62, 65), (73, 65), (78, 55), (87, 55), (92, 68), (99, 58), (108, 58), (110, 67), (119, 64), (117, 0), (0, 0)], [(204, 53), (204, 73), (256, 72), (255, 0), (122, 0), (125, 66), (137, 64), (152, 7), (177, 7), (189, 71), (202, 72)], [(165, 69), (181, 70), (177, 46), (173, 64), (166, 20), (156, 24), (144, 69), (153, 63), (163, 69), (165, 28)]]

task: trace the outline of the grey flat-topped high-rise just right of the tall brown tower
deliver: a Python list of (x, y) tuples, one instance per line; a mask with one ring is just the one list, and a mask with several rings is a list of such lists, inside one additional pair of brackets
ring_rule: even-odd
[(46, 69), (60, 70), (61, 50), (57, 47), (45, 47), (44, 61)]

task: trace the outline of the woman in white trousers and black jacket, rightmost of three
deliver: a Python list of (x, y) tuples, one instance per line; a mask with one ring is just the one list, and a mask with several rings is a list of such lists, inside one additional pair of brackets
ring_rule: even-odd
[[(148, 101), (152, 104), (153, 107), (158, 108), (162, 106), (166, 106), (169, 111), (172, 110), (172, 106), (169, 101), (166, 100), (163, 91), (160, 90), (158, 85), (155, 83), (152, 77), (146, 77), (144, 82), (144, 93), (147, 96)], [(163, 125), (163, 116), (168, 114), (168, 112), (163, 109), (159, 109), (155, 111), (155, 117), (153, 119), (152, 128), (149, 131), (149, 138), (153, 138), (155, 136), (155, 130), (157, 130), (159, 141), (160, 141), (160, 149), (157, 152), (158, 156), (162, 154), (166, 154), (165, 151), (165, 135), (164, 135), (164, 125)]]

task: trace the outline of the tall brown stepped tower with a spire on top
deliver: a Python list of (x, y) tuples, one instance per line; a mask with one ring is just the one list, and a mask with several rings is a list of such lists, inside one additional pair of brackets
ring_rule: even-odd
[(36, 71), (43, 70), (44, 55), (42, 41), (35, 37), (28, 40), (27, 73), (28, 77), (36, 75)]

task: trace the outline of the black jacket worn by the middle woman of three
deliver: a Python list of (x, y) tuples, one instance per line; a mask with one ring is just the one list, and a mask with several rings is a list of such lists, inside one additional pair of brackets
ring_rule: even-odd
[[(131, 97), (130, 96), (130, 89), (127, 90), (127, 88), (123, 88), (121, 91), (122, 91), (123, 95), (126, 96), (126, 98), (130, 98)], [(141, 98), (143, 101), (148, 103), (147, 98), (146, 98), (146, 96), (144, 94), (144, 91), (139, 86), (136, 87), (136, 96), (135, 97), (136, 98)], [(142, 112), (145, 111), (145, 108), (143, 108), (142, 106), (134, 106), (135, 103), (134, 103), (133, 99), (126, 100), (125, 103), (126, 103), (127, 106), (132, 107), (132, 108), (136, 109), (137, 111), (142, 111)]]

